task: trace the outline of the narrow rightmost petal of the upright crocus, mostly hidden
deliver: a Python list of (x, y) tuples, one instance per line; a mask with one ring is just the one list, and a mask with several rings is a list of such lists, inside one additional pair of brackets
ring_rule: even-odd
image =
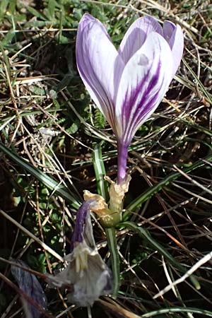
[(182, 52), (184, 47), (184, 39), (182, 28), (179, 25), (175, 25), (170, 21), (164, 21), (163, 23), (163, 36), (170, 45), (172, 50), (172, 59), (173, 59), (173, 69), (172, 77), (175, 76), (177, 72), (179, 63), (182, 59)]

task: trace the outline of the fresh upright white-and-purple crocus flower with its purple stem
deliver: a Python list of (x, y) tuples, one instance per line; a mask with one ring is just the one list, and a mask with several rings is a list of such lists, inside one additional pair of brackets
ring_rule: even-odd
[(137, 19), (117, 50), (100, 21), (85, 14), (78, 25), (76, 61), (91, 98), (117, 138), (117, 182), (126, 179), (127, 151), (136, 130), (158, 107), (183, 51), (179, 25)]

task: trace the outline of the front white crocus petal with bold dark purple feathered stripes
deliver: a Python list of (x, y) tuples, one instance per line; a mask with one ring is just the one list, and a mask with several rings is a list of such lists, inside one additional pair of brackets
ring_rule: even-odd
[(136, 129), (151, 116), (172, 80), (172, 52), (165, 39), (150, 33), (126, 64), (115, 109), (116, 135), (129, 145)]

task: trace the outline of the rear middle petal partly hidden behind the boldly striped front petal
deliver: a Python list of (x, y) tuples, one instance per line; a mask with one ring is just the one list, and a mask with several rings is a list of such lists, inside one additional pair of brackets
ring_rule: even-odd
[(141, 48), (147, 35), (151, 32), (163, 35), (160, 24), (151, 16), (143, 16), (129, 27), (119, 46), (119, 54), (125, 64)]

